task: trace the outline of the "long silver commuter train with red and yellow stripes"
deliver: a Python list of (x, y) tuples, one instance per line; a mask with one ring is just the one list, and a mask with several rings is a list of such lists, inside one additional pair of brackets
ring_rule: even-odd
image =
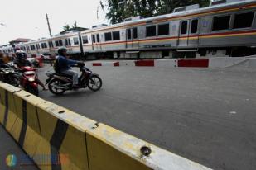
[[(213, 0), (157, 17), (131, 17), (114, 25), (18, 44), (29, 55), (68, 54), (85, 59), (240, 57), (256, 54), (256, 1)], [(12, 46), (0, 48), (13, 53)]]

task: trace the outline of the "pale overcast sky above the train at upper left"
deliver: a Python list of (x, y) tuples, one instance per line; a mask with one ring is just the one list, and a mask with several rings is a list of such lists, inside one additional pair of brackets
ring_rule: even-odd
[(77, 26), (88, 28), (109, 24), (102, 10), (97, 18), (99, 0), (0, 0), (0, 3), (0, 45), (17, 38), (49, 37), (46, 13), (52, 35), (75, 21)]

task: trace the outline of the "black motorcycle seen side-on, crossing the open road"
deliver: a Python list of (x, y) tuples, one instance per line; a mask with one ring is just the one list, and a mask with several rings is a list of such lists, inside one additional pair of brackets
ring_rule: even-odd
[[(78, 88), (89, 87), (89, 89), (93, 92), (99, 91), (99, 89), (102, 87), (102, 80), (99, 78), (99, 74), (93, 73), (91, 70), (89, 70), (89, 68), (85, 67), (85, 64), (79, 64), (73, 67), (80, 68), (81, 72)], [(51, 71), (47, 71), (46, 76), (48, 77), (46, 80), (46, 85), (48, 84), (48, 88), (53, 94), (60, 95), (65, 91), (78, 89), (72, 86), (72, 76)]]

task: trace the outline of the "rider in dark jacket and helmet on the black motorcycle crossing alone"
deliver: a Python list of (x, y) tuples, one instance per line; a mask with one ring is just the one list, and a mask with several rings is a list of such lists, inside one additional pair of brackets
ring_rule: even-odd
[(75, 64), (84, 63), (72, 59), (67, 59), (67, 49), (65, 47), (60, 47), (58, 50), (58, 55), (56, 56), (56, 62), (54, 64), (55, 71), (56, 73), (63, 73), (72, 76), (73, 87), (78, 88), (78, 73), (70, 68), (70, 66)]

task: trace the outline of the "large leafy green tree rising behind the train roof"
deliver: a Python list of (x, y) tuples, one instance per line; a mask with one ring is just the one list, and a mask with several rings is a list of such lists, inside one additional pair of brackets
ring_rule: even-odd
[(200, 7), (208, 6), (210, 0), (101, 0), (100, 7), (105, 11), (106, 18), (112, 24), (134, 16), (153, 17), (171, 13), (176, 7), (184, 7), (191, 4), (200, 4)]

